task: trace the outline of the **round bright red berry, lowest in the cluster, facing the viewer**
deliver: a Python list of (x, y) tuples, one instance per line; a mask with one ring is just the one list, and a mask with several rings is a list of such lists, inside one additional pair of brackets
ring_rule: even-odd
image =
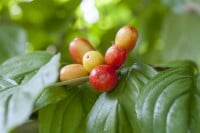
[(110, 65), (95, 67), (89, 76), (91, 86), (101, 92), (112, 90), (117, 84), (117, 72)]

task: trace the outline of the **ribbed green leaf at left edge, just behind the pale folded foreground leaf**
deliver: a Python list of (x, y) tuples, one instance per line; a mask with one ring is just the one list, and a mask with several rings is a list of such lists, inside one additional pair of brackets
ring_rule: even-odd
[(46, 64), (52, 54), (47, 52), (33, 52), (6, 60), (0, 65), (0, 75), (12, 79), (36, 71)]

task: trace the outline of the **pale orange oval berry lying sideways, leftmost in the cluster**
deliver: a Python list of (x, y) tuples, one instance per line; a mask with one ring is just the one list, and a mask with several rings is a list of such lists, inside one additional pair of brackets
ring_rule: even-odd
[(61, 68), (60, 81), (67, 81), (74, 78), (87, 76), (88, 72), (81, 64), (70, 64)]

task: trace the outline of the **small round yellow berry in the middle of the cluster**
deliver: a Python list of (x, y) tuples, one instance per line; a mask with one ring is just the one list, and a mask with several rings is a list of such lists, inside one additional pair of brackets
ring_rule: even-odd
[(103, 55), (98, 51), (88, 51), (83, 56), (83, 66), (90, 72), (93, 68), (104, 63)]

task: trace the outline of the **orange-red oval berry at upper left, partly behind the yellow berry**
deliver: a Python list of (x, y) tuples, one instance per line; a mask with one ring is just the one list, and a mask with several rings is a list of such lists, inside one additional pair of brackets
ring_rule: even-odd
[(75, 38), (69, 44), (69, 53), (72, 59), (78, 64), (82, 64), (83, 55), (91, 50), (94, 50), (94, 47), (84, 38)]

